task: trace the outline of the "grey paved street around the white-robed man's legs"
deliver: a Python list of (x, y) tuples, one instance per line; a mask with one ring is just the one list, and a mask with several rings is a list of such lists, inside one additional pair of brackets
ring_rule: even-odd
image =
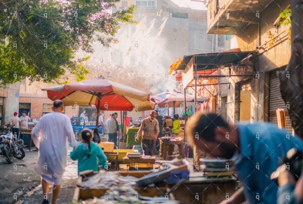
[[(9, 165), (5, 158), (0, 158), (0, 203), (41, 203), (43, 193), (40, 176), (34, 171), (38, 152), (26, 150), (23, 160), (14, 159)], [(77, 181), (77, 162), (68, 160), (68, 167), (57, 203), (69, 203), (72, 200)], [(52, 197), (52, 190), (49, 191)]]

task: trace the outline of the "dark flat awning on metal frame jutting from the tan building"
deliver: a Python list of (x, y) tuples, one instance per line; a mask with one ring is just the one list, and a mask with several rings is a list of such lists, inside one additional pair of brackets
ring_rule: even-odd
[(219, 68), (221, 65), (238, 65), (251, 54), (254, 54), (254, 51), (189, 55), (183, 58), (177, 70), (184, 70), (191, 58), (193, 58), (193, 64), (197, 65), (197, 70), (206, 70)]

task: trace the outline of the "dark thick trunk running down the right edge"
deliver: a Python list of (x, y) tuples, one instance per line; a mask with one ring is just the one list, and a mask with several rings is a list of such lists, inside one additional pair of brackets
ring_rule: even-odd
[(303, 2), (291, 1), (291, 57), (279, 72), (281, 95), (286, 103), (294, 133), (303, 139)]

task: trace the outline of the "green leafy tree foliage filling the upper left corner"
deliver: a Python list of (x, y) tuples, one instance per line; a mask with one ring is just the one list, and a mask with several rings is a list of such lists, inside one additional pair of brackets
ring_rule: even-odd
[(67, 71), (85, 79), (86, 59), (78, 50), (93, 52), (95, 40), (117, 42), (122, 24), (136, 23), (135, 7), (106, 12), (118, 0), (0, 0), (0, 86), (28, 78), (51, 83)]

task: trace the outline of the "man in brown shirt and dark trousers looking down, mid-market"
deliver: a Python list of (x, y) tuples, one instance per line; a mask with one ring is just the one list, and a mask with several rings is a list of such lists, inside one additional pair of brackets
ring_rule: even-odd
[(138, 142), (141, 135), (141, 146), (144, 155), (153, 155), (153, 151), (156, 146), (156, 140), (159, 135), (159, 122), (157, 119), (157, 112), (151, 111), (149, 117), (146, 117), (142, 120), (141, 126), (138, 131), (138, 135), (135, 138), (135, 141)]

